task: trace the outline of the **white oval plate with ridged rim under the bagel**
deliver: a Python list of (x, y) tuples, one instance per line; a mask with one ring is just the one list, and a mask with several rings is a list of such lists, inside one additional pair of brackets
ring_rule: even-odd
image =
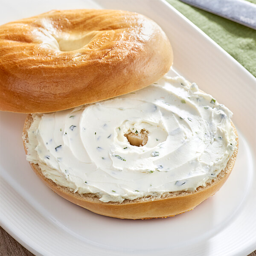
[(173, 218), (119, 220), (96, 215), (48, 189), (25, 160), (26, 115), (0, 113), (0, 221), (35, 255), (246, 256), (256, 249), (256, 79), (172, 6), (160, 0), (26, 0), (0, 2), (0, 23), (50, 9), (140, 12), (169, 36), (174, 68), (233, 111), (239, 154), (213, 197)]

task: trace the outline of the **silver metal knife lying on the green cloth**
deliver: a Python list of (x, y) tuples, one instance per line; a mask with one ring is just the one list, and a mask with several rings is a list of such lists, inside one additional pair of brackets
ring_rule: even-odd
[(245, 0), (180, 0), (244, 26), (256, 29), (256, 4)]

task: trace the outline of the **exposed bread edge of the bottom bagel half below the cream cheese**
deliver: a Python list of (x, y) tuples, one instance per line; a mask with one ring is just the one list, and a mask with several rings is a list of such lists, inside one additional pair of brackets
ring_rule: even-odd
[[(27, 131), (32, 122), (32, 116), (28, 115), (23, 129), (23, 144), (26, 153), (26, 143), (28, 142)], [(238, 150), (238, 135), (233, 123), (232, 126), (236, 133), (237, 149), (230, 157), (226, 168), (222, 170), (217, 177), (209, 180), (206, 187), (200, 186), (195, 192), (170, 192), (161, 198), (148, 197), (138, 198), (136, 200), (125, 200), (122, 203), (103, 203), (102, 201), (99, 201), (99, 198), (97, 198), (97, 196), (94, 194), (80, 195), (78, 192), (73, 193), (68, 188), (57, 185), (52, 180), (44, 177), (40, 167), (37, 164), (31, 163), (31, 166), (36, 175), (38, 175), (44, 181), (44, 183), (49, 186), (50, 189), (68, 201), (84, 207), (92, 212), (114, 218), (126, 219), (165, 218), (195, 208), (202, 201), (209, 198), (209, 196), (214, 195), (215, 192), (217, 192), (225, 183), (235, 164)]]

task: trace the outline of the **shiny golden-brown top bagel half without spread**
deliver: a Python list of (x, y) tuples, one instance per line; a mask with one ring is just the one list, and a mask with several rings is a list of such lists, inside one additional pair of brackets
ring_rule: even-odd
[(98, 102), (160, 79), (172, 47), (147, 17), (51, 11), (0, 26), (0, 110), (46, 113)]

